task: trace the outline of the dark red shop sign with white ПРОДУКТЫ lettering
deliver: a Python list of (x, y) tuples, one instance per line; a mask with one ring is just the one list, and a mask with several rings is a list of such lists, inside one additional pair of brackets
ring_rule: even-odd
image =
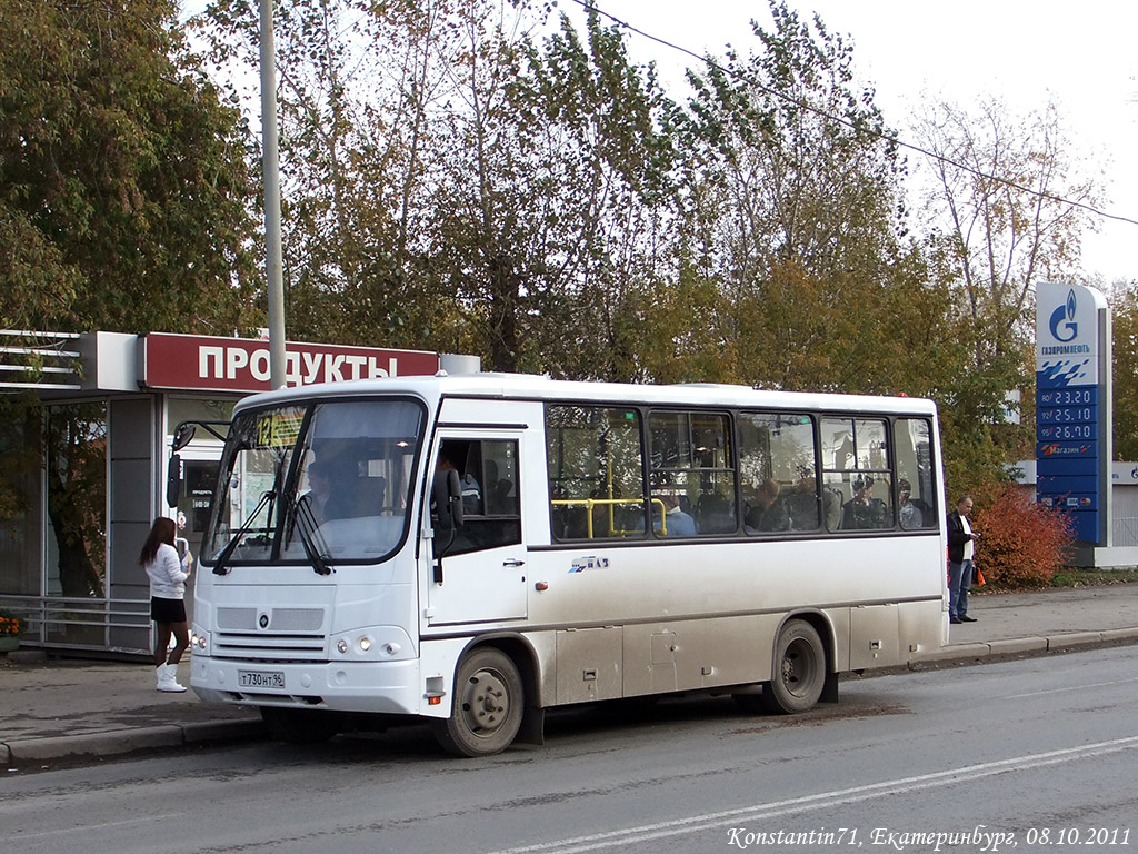
[[(269, 391), (269, 342), (151, 332), (140, 347), (139, 379), (150, 388)], [(284, 345), (290, 386), (438, 371), (437, 353), (331, 344)]]

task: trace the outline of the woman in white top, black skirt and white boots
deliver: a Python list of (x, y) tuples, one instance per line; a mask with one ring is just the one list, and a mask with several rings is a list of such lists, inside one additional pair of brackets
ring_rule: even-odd
[[(178, 684), (178, 663), (190, 646), (190, 632), (185, 625), (185, 580), (190, 574), (189, 566), (182, 568), (174, 548), (176, 532), (173, 519), (159, 516), (139, 555), (139, 565), (150, 577), (150, 618), (158, 627), (154, 664), (159, 691), (185, 690)], [(173, 649), (170, 649), (171, 635), (175, 641)]]

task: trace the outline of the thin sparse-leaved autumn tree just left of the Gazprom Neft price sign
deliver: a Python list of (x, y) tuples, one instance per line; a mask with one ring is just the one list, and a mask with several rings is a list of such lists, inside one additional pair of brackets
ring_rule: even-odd
[(1104, 190), (1054, 104), (1017, 113), (995, 98), (929, 98), (910, 132), (926, 153), (915, 161), (926, 255), (951, 288), (960, 344), (937, 395), (948, 483), (974, 490), (1033, 454), (1033, 422), (1008, 424), (1005, 395), (1033, 394), (1034, 285), (1081, 279), (1080, 237)]

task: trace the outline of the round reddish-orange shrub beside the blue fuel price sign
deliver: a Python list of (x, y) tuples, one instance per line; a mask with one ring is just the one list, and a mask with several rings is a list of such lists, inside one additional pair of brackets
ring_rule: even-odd
[(1046, 588), (1067, 559), (1071, 517), (1008, 484), (974, 498), (970, 519), (980, 534), (975, 563), (986, 584), (1003, 590)]

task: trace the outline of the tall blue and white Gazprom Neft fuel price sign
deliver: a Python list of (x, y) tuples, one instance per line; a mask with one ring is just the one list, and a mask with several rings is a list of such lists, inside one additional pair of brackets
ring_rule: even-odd
[(1079, 285), (1036, 286), (1036, 495), (1110, 545), (1111, 315)]

